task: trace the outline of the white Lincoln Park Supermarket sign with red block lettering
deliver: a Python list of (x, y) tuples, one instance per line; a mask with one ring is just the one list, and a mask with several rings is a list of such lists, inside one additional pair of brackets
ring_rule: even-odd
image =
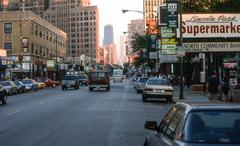
[(240, 14), (183, 14), (184, 38), (240, 38)]

